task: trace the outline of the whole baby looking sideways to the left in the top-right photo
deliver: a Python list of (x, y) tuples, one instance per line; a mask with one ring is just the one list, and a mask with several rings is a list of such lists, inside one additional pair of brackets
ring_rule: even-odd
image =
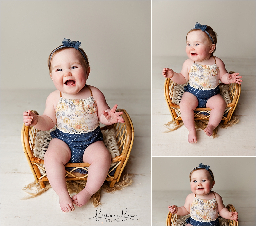
[(162, 74), (177, 84), (185, 84), (188, 81), (180, 102), (180, 112), (189, 131), (188, 142), (196, 143), (194, 110), (197, 107), (212, 109), (209, 123), (204, 129), (207, 136), (212, 136), (213, 129), (220, 123), (226, 107), (220, 95), (219, 80), (224, 84), (241, 84), (242, 76), (238, 76), (239, 73), (229, 74), (222, 60), (213, 56), (217, 36), (210, 26), (196, 23), (195, 28), (187, 33), (186, 43), (189, 59), (183, 63), (181, 72), (176, 73), (170, 68), (164, 68)]

